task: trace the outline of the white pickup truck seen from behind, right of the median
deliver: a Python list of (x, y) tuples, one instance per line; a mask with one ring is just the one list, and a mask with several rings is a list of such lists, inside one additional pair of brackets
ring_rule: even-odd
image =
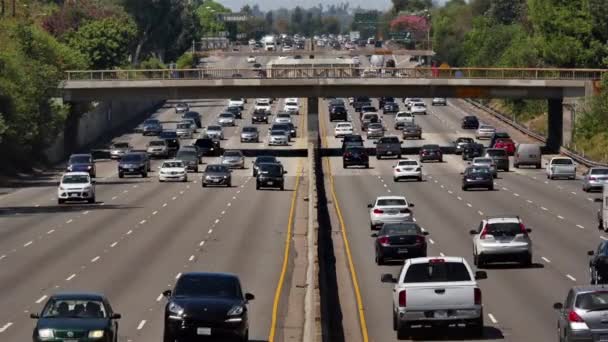
[(394, 283), (393, 329), (406, 339), (414, 327), (466, 325), (475, 337), (483, 335), (483, 306), (477, 279), (462, 257), (408, 259), (399, 278), (382, 275), (382, 282)]

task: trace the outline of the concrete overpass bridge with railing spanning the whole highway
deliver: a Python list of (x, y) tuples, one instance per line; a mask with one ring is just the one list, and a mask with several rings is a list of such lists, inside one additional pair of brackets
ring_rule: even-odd
[(562, 143), (563, 99), (597, 90), (603, 69), (278, 67), (264, 69), (68, 71), (59, 88), (66, 101), (394, 96), (518, 98), (548, 101), (547, 147)]

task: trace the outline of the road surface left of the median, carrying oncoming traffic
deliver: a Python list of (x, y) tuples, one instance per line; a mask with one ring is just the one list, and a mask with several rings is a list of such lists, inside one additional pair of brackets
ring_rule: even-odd
[[(246, 64), (236, 57), (217, 63)], [(203, 126), (215, 122), (227, 104), (225, 99), (187, 102), (202, 114)], [(240, 128), (250, 124), (253, 102), (246, 104), (236, 128), (225, 128), (223, 148), (266, 148), (264, 142), (242, 144), (239, 139)], [(175, 128), (180, 116), (174, 104), (151, 117)], [(279, 106), (282, 100), (273, 104), (273, 113)], [(300, 125), (290, 148), (305, 147), (303, 118), (294, 117)], [(264, 139), (268, 125), (258, 127)], [(114, 141), (144, 149), (151, 139), (126, 134)], [(29, 313), (39, 312), (53, 293), (97, 291), (122, 314), (120, 341), (159, 341), (166, 303), (160, 294), (188, 271), (237, 274), (244, 290), (256, 296), (249, 305), (251, 339), (266, 341), (271, 331), (282, 339), (274, 328), (282, 325), (293, 268), (292, 252), (283, 270), (284, 251), (294, 217), (305, 213), (298, 205), (306, 194), (297, 187), (306, 182), (306, 164), (303, 158), (280, 159), (288, 171), (285, 191), (256, 190), (252, 158), (246, 169), (235, 170), (232, 188), (204, 189), (201, 173), (190, 173), (188, 183), (159, 183), (158, 160), (146, 179), (119, 179), (116, 161), (98, 160), (94, 205), (58, 206), (59, 173), (0, 196), (0, 305), (5, 308), (0, 340), (31, 340)], [(217, 160), (205, 157), (204, 163)], [(283, 292), (275, 303), (279, 281)], [(274, 328), (273, 315), (278, 319)]]

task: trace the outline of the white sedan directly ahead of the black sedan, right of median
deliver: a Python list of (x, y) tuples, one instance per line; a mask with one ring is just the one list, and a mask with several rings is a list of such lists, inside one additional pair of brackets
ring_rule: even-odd
[(379, 196), (374, 203), (368, 204), (369, 221), (372, 230), (381, 228), (385, 223), (412, 221), (410, 210), (413, 203), (408, 203), (403, 196)]

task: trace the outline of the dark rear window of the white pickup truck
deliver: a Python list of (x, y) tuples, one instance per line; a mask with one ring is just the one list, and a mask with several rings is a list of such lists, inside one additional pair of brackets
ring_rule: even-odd
[(461, 262), (429, 262), (412, 264), (405, 274), (405, 283), (470, 281), (471, 276)]

